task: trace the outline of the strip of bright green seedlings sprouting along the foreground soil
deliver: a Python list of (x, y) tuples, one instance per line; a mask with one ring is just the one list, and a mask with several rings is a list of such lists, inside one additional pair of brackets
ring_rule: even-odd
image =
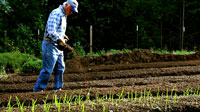
[[(88, 93), (83, 96), (82, 91), (80, 91), (80, 94), (74, 95), (73, 93), (67, 97), (67, 93), (63, 98), (58, 97), (56, 94), (53, 97), (52, 103), (47, 102), (48, 95), (46, 96), (46, 99), (43, 100), (43, 111), (44, 112), (50, 112), (53, 111), (52, 109), (57, 109), (57, 112), (61, 112), (63, 110), (73, 111), (76, 109), (79, 109), (79, 111), (86, 112), (88, 110), (95, 110), (101, 108), (103, 112), (109, 111), (109, 109), (119, 109), (123, 108), (123, 105), (137, 105), (139, 107), (145, 107), (149, 109), (158, 109), (162, 111), (168, 111), (170, 106), (173, 106), (173, 104), (181, 102), (179, 100), (180, 98), (185, 97), (199, 97), (199, 88), (192, 89), (188, 88), (186, 91), (183, 91), (183, 95), (177, 95), (176, 93), (176, 87), (174, 86), (170, 91), (168, 88), (166, 89), (165, 94), (160, 94), (160, 90), (157, 90), (157, 94), (153, 96), (152, 90), (150, 89), (144, 89), (137, 93), (137, 91), (133, 92), (126, 92), (123, 88), (121, 90), (121, 93), (116, 95), (118, 97), (113, 97), (114, 94), (110, 91), (109, 94), (104, 94), (103, 96), (100, 96), (98, 93), (96, 93), (95, 99), (90, 99), (90, 92), (91, 89), (88, 91)], [(130, 96), (129, 96), (130, 95)], [(135, 96), (135, 97), (134, 97)], [(85, 98), (85, 100), (83, 100)], [(17, 108), (20, 112), (24, 112), (24, 110), (27, 110), (27, 107), (24, 106), (25, 101), (20, 102), (20, 99), (16, 97), (16, 104), (13, 106), (11, 105), (11, 99), (10, 97), (9, 102), (7, 104), (7, 112), (10, 112), (13, 110), (13, 108), (16, 109), (16, 107), (13, 107), (14, 105), (17, 105)], [(190, 100), (190, 99), (189, 99)], [(195, 101), (195, 100), (194, 100)], [(37, 99), (32, 100), (32, 107), (30, 108), (32, 112), (37, 111), (38, 105), (36, 106)], [(40, 104), (41, 105), (41, 104)], [(192, 103), (191, 103), (192, 105)], [(55, 108), (52, 108), (55, 106)], [(64, 108), (64, 109), (63, 109)]]

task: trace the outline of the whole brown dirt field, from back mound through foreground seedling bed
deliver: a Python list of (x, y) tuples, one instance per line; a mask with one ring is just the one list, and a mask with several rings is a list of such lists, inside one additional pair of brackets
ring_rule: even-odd
[[(33, 92), (37, 78), (38, 73), (31, 73), (0, 79), (0, 111), (8, 109), (10, 97), (11, 105), (17, 103), (17, 96), (29, 107), (32, 100), (37, 99), (35, 111), (43, 112), (45, 99), (52, 102), (55, 94), (63, 98), (80, 93), (85, 96), (85, 112), (200, 111), (200, 52), (160, 55), (149, 50), (135, 50), (99, 57), (74, 57), (66, 62), (65, 84), (61, 91), (52, 90), (52, 76), (44, 92)], [(95, 107), (93, 109), (89, 109), (91, 102), (86, 100), (88, 93)], [(99, 97), (112, 94), (113, 99), (104, 98), (103, 105), (98, 105), (97, 94)], [(120, 94), (123, 98), (119, 98)], [(75, 99), (72, 100), (75, 102)], [(31, 111), (29, 107), (24, 111)], [(61, 111), (69, 111), (68, 107), (63, 103)], [(50, 108), (57, 111), (56, 106)], [(71, 104), (70, 111), (82, 110), (83, 106)], [(13, 111), (20, 110), (15, 105)]]

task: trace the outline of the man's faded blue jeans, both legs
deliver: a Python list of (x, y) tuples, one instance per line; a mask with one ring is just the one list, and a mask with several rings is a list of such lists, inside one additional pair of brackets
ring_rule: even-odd
[(48, 40), (42, 42), (43, 68), (33, 87), (33, 91), (41, 91), (46, 88), (52, 72), (54, 71), (54, 89), (63, 87), (63, 73), (65, 70), (64, 54), (56, 48), (55, 44)]

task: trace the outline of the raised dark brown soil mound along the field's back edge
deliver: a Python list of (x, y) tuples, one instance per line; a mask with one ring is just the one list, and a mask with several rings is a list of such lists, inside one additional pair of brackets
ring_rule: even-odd
[[(157, 54), (151, 50), (134, 50), (127, 53), (103, 54), (101, 56), (76, 56), (66, 62), (66, 72), (88, 72), (92, 67), (130, 65), (136, 63), (188, 61), (200, 59), (200, 52), (191, 55)], [(124, 67), (123, 67), (124, 68)]]

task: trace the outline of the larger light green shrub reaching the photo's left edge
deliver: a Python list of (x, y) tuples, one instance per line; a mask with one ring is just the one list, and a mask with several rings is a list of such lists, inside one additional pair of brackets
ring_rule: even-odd
[(4, 72), (13, 73), (30, 60), (37, 60), (37, 58), (29, 54), (22, 54), (18, 51), (0, 53), (0, 74)]

